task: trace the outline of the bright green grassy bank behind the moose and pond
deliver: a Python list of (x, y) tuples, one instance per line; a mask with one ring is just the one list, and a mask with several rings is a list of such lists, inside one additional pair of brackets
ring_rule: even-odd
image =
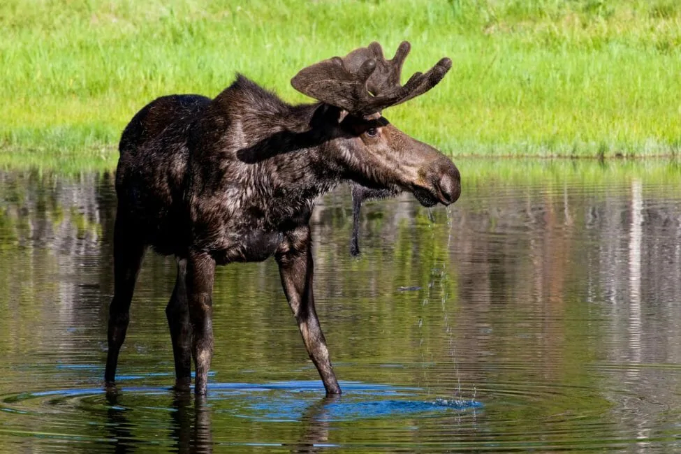
[(374, 39), (411, 41), (405, 73), (453, 59), (433, 91), (386, 111), (446, 152), (681, 149), (673, 0), (8, 0), (0, 27), (0, 166), (113, 166), (147, 101), (214, 96), (237, 71), (306, 101), (289, 85), (298, 69)]

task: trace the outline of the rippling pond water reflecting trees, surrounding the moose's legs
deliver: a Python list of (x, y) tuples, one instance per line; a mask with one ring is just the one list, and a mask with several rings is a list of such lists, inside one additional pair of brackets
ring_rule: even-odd
[(175, 393), (148, 254), (102, 388), (110, 173), (0, 172), (0, 453), (681, 451), (681, 170), (469, 161), (450, 208), (319, 200), (325, 399), (274, 261), (219, 268), (207, 399)]

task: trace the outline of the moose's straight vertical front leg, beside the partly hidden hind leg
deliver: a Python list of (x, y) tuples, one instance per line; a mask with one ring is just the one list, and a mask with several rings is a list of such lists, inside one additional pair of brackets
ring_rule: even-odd
[(213, 356), (212, 293), (215, 261), (208, 254), (189, 254), (186, 294), (194, 358), (194, 393), (206, 393), (208, 369)]

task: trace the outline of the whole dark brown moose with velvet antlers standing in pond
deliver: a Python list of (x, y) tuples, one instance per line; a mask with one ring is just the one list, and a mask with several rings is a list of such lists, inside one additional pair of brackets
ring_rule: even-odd
[(237, 74), (213, 99), (163, 96), (131, 119), (116, 172), (106, 386), (115, 386), (134, 286), (151, 246), (177, 260), (166, 307), (177, 388), (190, 388), (193, 359), (194, 391), (206, 393), (216, 265), (274, 256), (326, 393), (341, 393), (314, 309), (314, 200), (343, 183), (367, 196), (409, 191), (428, 207), (460, 195), (451, 159), (381, 115), (430, 90), (451, 68), (443, 58), (400, 85), (410, 47), (403, 42), (387, 60), (371, 43), (302, 69), (291, 85), (315, 103), (290, 105)]

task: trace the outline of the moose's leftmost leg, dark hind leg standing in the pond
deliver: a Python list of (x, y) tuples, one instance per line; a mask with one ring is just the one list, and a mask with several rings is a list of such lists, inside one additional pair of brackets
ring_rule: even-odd
[[(120, 212), (120, 210), (119, 210)], [(114, 226), (114, 296), (109, 306), (108, 346), (104, 380), (112, 385), (116, 378), (118, 354), (125, 340), (130, 321), (130, 302), (135, 290), (145, 244), (136, 232), (128, 228), (120, 216), (116, 217)]]

